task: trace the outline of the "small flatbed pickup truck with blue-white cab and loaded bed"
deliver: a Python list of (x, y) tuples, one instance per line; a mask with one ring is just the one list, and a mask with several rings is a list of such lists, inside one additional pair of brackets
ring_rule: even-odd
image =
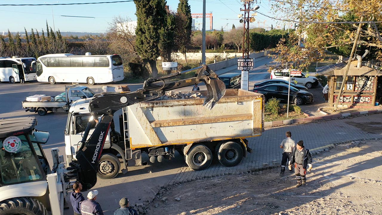
[[(25, 111), (37, 112), (40, 116), (45, 116), (48, 111), (52, 112), (68, 112), (70, 105), (73, 101), (78, 99), (91, 98), (94, 96), (94, 92), (86, 86), (71, 85), (65, 86), (65, 92), (51, 98), (47, 96), (48, 99), (45, 101), (34, 100), (34, 101), (23, 101), (23, 108)], [(45, 96), (40, 96), (45, 97)], [(27, 98), (28, 99), (28, 98)]]

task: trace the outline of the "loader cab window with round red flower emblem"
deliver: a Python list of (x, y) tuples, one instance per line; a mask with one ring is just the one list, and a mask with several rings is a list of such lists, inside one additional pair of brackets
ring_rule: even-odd
[(0, 144), (1, 185), (44, 179), (34, 147), (26, 135), (2, 138)]

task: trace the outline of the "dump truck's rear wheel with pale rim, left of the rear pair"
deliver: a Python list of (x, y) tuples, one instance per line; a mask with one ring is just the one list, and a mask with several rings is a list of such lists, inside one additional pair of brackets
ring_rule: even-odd
[(206, 169), (212, 163), (212, 152), (205, 145), (195, 145), (188, 151), (186, 163), (194, 170)]

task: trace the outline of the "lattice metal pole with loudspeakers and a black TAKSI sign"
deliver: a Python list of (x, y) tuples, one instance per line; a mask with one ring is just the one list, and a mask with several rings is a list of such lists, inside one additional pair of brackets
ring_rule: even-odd
[(256, 5), (254, 8), (253, 6), (254, 0), (241, 0), (243, 2), (244, 9), (240, 8), (240, 11), (244, 11), (244, 14), (239, 14), (239, 18), (242, 17), (243, 19), (243, 58), (238, 59), (238, 70), (241, 70), (241, 89), (242, 90), (248, 90), (249, 85), (249, 77), (248, 73), (249, 70), (253, 69), (253, 59), (249, 58), (249, 23), (256, 21), (255, 18), (253, 18), (254, 15), (249, 15), (251, 11), (255, 11), (259, 9), (260, 7)]

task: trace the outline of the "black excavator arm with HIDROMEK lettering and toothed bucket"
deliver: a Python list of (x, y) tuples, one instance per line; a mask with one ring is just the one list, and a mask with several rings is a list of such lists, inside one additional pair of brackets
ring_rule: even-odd
[(158, 98), (162, 96), (165, 91), (176, 90), (200, 82), (204, 82), (207, 86), (207, 96), (203, 104), (206, 108), (212, 109), (215, 103), (224, 96), (225, 84), (207, 65), (195, 69), (197, 69), (197, 71), (192, 78), (169, 82), (165, 81), (166, 79), (174, 78), (190, 70), (162, 77), (149, 78), (144, 82), (143, 88), (137, 91), (131, 93), (103, 94), (90, 101), (90, 113), (95, 119), (98, 119), (98, 117), (101, 117), (101, 119), (97, 122), (98, 124), (95, 126), (93, 134), (87, 140), (89, 131), (95, 123), (93, 120), (89, 121), (76, 153), (76, 159), (80, 165), (78, 180), (83, 185), (84, 191), (91, 189), (97, 182), (98, 162), (102, 154), (102, 149), (104, 148), (113, 114), (116, 111), (134, 103)]

